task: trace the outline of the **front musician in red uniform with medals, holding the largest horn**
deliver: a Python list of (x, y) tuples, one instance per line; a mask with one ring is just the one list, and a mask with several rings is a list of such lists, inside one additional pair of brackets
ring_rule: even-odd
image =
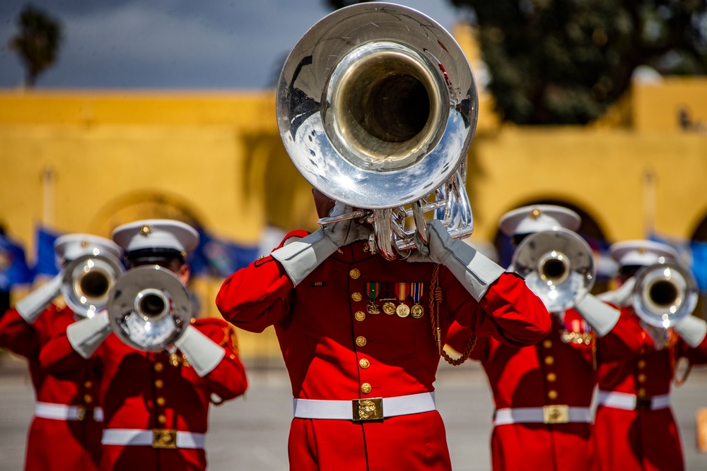
[[(315, 201), (320, 215), (334, 203), (316, 190)], [(342, 212), (337, 203), (332, 214)], [(547, 311), (522, 279), (439, 221), (428, 228), (429, 245), (407, 261), (374, 254), (370, 229), (350, 220), (292, 232), (221, 287), (228, 321), (275, 328), (294, 398), (292, 470), (449, 470), (433, 386), (449, 324), (510, 345), (547, 334)]]

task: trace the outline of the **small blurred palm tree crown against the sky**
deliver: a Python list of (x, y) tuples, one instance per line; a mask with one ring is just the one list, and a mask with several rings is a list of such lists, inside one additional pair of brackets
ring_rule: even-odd
[(57, 61), (62, 42), (62, 25), (40, 8), (28, 5), (18, 18), (20, 31), (8, 46), (18, 52), (25, 66), (25, 85), (32, 87), (37, 77)]

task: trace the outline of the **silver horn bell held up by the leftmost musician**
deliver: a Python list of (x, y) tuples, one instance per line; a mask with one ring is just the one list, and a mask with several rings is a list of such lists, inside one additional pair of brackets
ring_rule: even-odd
[(64, 267), (62, 296), (79, 316), (93, 317), (105, 309), (112, 285), (124, 272), (122, 263), (110, 254), (82, 256)]

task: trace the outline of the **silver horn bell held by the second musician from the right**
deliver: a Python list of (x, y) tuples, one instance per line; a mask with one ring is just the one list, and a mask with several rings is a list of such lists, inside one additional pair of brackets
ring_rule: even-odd
[(596, 275), (589, 244), (563, 228), (525, 237), (513, 253), (513, 268), (550, 312), (576, 306), (592, 290)]

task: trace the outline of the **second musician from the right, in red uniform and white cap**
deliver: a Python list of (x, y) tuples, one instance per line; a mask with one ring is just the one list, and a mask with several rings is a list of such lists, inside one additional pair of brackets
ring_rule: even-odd
[[(555, 205), (518, 208), (500, 222), (516, 244), (535, 232), (557, 227), (575, 231), (579, 225), (579, 215)], [(479, 338), (471, 352), (484, 367), (496, 406), (494, 471), (596, 469), (590, 405), (597, 364), (631, 358), (640, 344), (638, 330), (591, 294), (575, 308), (551, 313), (550, 333), (536, 345)], [(468, 328), (452, 324), (450, 346), (462, 351), (468, 338)]]

